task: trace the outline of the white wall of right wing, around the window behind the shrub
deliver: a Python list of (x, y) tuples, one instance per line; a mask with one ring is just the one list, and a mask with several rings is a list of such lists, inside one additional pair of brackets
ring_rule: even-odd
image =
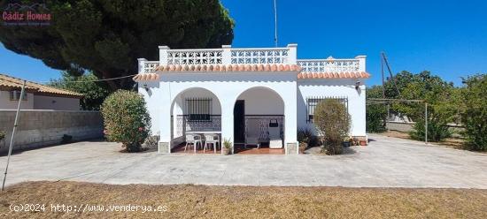
[[(355, 83), (361, 81), (359, 90)], [(346, 96), (352, 117), (352, 136), (366, 136), (366, 86), (363, 79), (309, 79), (298, 81), (298, 127), (311, 128), (306, 122), (306, 98)]]

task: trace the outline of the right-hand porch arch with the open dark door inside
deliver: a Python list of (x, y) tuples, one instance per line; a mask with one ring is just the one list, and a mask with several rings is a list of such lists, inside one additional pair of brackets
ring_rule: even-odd
[(251, 87), (240, 94), (234, 106), (234, 139), (234, 153), (284, 154), (281, 95), (268, 87)]

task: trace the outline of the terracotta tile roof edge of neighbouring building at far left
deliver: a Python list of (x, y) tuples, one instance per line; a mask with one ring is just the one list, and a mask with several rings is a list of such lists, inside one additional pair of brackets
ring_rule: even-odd
[[(17, 79), (0, 73), (0, 90), (19, 90), (22, 88), (23, 79)], [(62, 97), (81, 98), (83, 95), (73, 91), (59, 89), (56, 87), (49, 87), (42, 84), (37, 84), (32, 81), (26, 81), (26, 90), (34, 94), (46, 94)]]

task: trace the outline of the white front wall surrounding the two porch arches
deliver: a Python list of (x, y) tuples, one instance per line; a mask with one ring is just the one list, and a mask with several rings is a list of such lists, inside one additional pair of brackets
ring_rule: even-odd
[[(235, 73), (165, 73), (158, 82), (139, 82), (139, 93), (144, 95), (152, 118), (152, 130), (160, 134), (160, 142), (171, 141), (171, 105), (178, 94), (200, 87), (218, 97), (221, 106), (222, 138), (234, 140), (233, 110), (240, 94), (252, 87), (266, 87), (279, 94), (284, 102), (284, 145), (297, 143), (296, 72), (235, 72)], [(147, 92), (143, 84), (150, 87)], [(294, 87), (294, 88), (293, 88)]]

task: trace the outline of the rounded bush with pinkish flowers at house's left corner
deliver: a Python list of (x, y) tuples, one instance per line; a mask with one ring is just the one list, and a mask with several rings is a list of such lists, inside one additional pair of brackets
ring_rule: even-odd
[(128, 152), (140, 151), (151, 128), (142, 95), (119, 90), (104, 100), (101, 111), (107, 139), (121, 142)]

